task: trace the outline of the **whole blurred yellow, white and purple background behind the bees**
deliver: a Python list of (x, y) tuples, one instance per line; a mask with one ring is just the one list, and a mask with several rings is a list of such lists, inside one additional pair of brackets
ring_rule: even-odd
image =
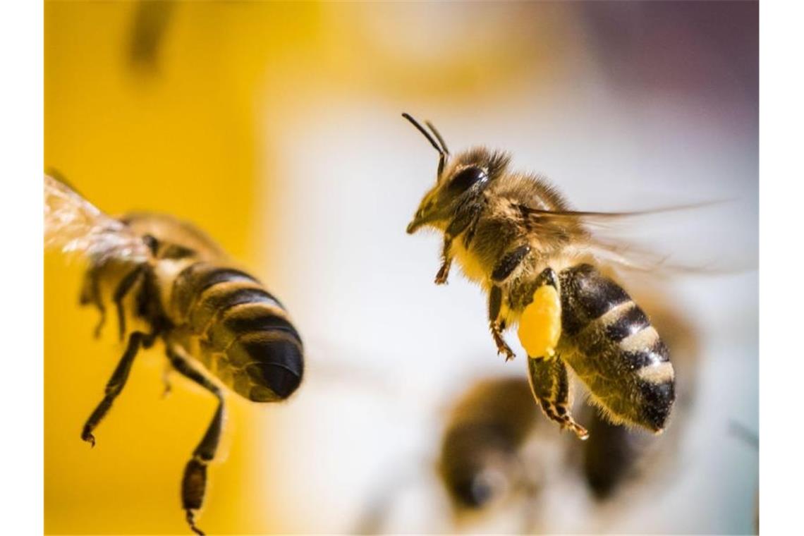
[[(510, 150), (580, 209), (736, 207), (658, 227), (662, 252), (719, 262), (655, 283), (699, 337), (667, 469), (605, 503), (557, 471), (538, 530), (753, 532), (757, 452), (730, 431), (758, 430), (757, 18), (755, 2), (46, 2), (46, 168), (112, 214), (198, 223), (306, 342), (289, 403), (229, 397), (199, 525), (346, 532), (387, 495), (376, 530), (522, 526), (453, 525), (435, 476), (453, 397), (524, 362), (494, 354), (477, 288), (432, 284), (440, 241), (404, 234), (436, 170), (405, 111), (453, 151)], [(179, 480), (214, 401), (175, 377), (161, 399), (150, 350), (90, 449), (122, 348), (112, 322), (92, 339), (80, 265), (45, 268), (47, 533), (187, 532)]]

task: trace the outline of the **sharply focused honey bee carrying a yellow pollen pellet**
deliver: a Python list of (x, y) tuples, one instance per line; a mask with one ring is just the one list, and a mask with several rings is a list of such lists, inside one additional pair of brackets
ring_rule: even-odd
[(596, 267), (599, 253), (621, 252), (588, 228), (626, 213), (572, 211), (546, 178), (511, 170), (508, 153), (475, 147), (452, 157), (433, 125), (425, 123), (431, 134), (403, 117), (438, 152), (436, 184), (408, 225), (408, 234), (433, 227), (444, 235), (436, 284), (446, 283), (455, 259), (481, 285), (491, 336), (506, 360), (514, 352), (503, 331), (519, 325), (531, 391), (561, 428), (589, 436), (570, 411), (569, 365), (610, 421), (662, 432), (675, 400), (667, 346)]

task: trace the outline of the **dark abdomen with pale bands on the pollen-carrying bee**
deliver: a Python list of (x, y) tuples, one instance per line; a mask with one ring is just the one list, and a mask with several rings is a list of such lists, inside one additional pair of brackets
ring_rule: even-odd
[(562, 357), (615, 422), (659, 432), (675, 399), (673, 366), (646, 314), (589, 264), (560, 273)]

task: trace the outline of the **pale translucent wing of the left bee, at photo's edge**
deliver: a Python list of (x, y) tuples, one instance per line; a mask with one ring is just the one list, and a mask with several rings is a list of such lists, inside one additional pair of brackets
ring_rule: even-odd
[(115, 258), (144, 262), (150, 249), (125, 223), (89, 203), (70, 186), (45, 175), (45, 248), (80, 254), (100, 264)]

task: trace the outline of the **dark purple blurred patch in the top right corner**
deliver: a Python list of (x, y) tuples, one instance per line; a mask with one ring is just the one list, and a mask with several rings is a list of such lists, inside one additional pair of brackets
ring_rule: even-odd
[(634, 106), (691, 99), (757, 128), (759, 2), (579, 2), (605, 83)]

